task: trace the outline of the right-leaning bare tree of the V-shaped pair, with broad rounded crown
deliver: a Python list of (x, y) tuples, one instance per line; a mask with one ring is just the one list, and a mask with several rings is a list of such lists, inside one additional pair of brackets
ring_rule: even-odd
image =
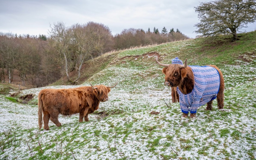
[(88, 22), (83, 25), (75, 24), (72, 29), (72, 44), (74, 46), (74, 57), (78, 77), (73, 80), (75, 83), (81, 76), (81, 68), (84, 60), (100, 56), (112, 49), (112, 35), (110, 29), (95, 22)]

